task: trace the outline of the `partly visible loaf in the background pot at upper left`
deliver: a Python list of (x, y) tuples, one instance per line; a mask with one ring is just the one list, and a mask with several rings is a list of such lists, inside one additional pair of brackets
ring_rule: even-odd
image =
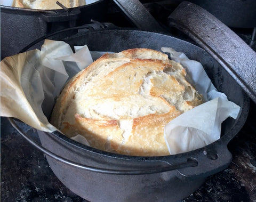
[[(13, 7), (21, 7), (26, 9), (39, 9), (39, 10), (55, 10), (61, 9), (56, 4), (57, 0), (13, 0)], [(71, 7), (78, 7), (85, 5), (85, 0), (58, 0), (63, 6), (68, 9)]]

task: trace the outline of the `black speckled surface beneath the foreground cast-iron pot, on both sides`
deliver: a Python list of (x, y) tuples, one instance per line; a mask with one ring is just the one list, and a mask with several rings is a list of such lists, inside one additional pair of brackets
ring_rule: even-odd
[[(228, 145), (233, 154), (231, 164), (207, 177), (199, 189), (180, 202), (256, 200), (255, 113), (256, 105), (251, 102), (244, 127)], [(22, 130), (37, 138), (33, 128)], [(45, 155), (31, 146), (5, 117), (1, 117), (1, 201), (87, 202), (59, 181)]]

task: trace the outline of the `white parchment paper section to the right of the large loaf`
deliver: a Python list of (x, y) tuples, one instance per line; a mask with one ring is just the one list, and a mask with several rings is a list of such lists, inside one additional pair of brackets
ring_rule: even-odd
[(189, 60), (184, 53), (163, 47), (172, 60), (186, 68), (196, 89), (207, 101), (173, 119), (165, 126), (164, 136), (170, 154), (192, 151), (220, 138), (221, 123), (228, 117), (237, 118), (240, 107), (218, 92), (201, 63)]

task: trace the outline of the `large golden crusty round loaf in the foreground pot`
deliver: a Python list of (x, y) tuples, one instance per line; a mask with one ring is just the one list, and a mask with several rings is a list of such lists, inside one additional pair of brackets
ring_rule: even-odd
[(130, 49), (105, 54), (62, 90), (51, 123), (94, 148), (133, 156), (169, 155), (164, 126), (201, 104), (186, 70), (166, 54)]

